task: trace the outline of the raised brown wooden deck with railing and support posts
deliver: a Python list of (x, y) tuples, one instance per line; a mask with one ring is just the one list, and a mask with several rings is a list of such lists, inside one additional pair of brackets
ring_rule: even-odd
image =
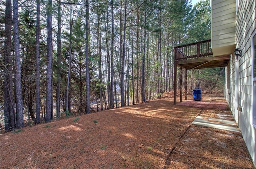
[[(174, 47), (174, 104), (176, 104), (177, 67), (180, 67), (180, 102), (182, 102), (182, 75), (185, 73), (185, 100), (187, 99), (187, 70), (228, 66), (230, 54), (213, 56), (211, 40)], [(184, 71), (183, 71), (184, 70)]]

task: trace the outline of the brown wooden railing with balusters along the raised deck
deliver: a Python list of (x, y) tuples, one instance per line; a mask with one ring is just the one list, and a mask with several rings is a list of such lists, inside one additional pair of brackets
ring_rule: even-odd
[(174, 47), (175, 61), (206, 58), (212, 56), (211, 40)]

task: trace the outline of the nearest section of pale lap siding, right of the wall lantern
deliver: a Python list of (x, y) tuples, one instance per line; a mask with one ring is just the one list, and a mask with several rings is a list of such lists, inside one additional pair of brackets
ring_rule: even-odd
[[(256, 129), (252, 125), (252, 44), (256, 29), (256, 1), (240, 0), (236, 13), (236, 46), (242, 50), (239, 59), (239, 127), (248, 151), (256, 164)], [(232, 106), (232, 105), (230, 105)]]

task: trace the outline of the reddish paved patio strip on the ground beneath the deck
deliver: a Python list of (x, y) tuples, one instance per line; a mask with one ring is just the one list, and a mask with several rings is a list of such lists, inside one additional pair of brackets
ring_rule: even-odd
[(225, 101), (193, 101), (193, 100), (185, 100), (183, 102), (177, 103), (177, 105), (185, 105), (185, 106), (191, 106), (191, 107), (225, 110), (226, 106), (228, 104)]

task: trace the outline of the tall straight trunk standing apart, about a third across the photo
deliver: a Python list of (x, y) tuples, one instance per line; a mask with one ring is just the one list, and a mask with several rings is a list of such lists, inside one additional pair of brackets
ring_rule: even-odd
[(86, 0), (86, 21), (85, 21), (85, 60), (86, 60), (86, 113), (90, 113), (90, 76), (89, 76), (89, 0)]

